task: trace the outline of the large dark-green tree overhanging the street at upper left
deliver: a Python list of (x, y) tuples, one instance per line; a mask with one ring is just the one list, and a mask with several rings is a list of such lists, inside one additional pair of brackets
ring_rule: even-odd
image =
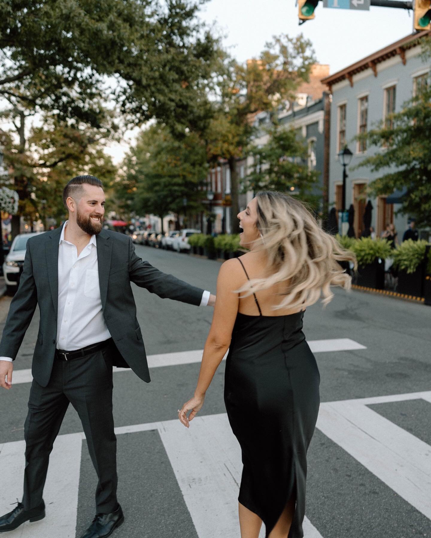
[[(179, 134), (205, 129), (216, 42), (196, 18), (201, 3), (0, 0), (0, 117), (23, 162), (29, 117), (46, 112), (72, 129), (97, 129), (109, 103), (123, 126), (156, 117)], [(24, 168), (14, 181), (28, 199)]]

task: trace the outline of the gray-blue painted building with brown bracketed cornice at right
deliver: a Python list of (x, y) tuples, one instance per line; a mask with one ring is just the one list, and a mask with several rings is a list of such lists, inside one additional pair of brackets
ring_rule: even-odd
[[(367, 203), (367, 185), (383, 175), (368, 168), (352, 167), (361, 160), (384, 148), (366, 147), (354, 140), (360, 133), (385, 119), (391, 112), (402, 109), (419, 84), (429, 76), (429, 61), (421, 58), (418, 38), (429, 32), (407, 36), (370, 56), (323, 79), (332, 94), (329, 143), (329, 207), (342, 208), (343, 167), (338, 152), (344, 145), (350, 148), (353, 158), (347, 169), (346, 209), (355, 209), (354, 229), (358, 237), (363, 231), (362, 216)], [(420, 41), (419, 41), (420, 43)], [(388, 195), (392, 193), (387, 193)], [(387, 223), (392, 222), (401, 241), (407, 228), (408, 215), (395, 215), (399, 204), (386, 201), (386, 196), (371, 198), (372, 225), (379, 236)]]

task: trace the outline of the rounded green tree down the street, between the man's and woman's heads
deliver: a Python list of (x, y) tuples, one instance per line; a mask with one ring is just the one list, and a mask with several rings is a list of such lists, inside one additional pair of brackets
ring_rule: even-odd
[(206, 151), (196, 133), (177, 138), (166, 126), (152, 125), (141, 132), (124, 168), (126, 178), (116, 194), (123, 207), (126, 202), (137, 214), (157, 215), (162, 225), (171, 212), (196, 214), (204, 209)]

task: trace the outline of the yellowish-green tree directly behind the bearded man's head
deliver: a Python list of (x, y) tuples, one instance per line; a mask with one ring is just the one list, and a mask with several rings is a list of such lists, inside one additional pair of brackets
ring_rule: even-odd
[[(1, 134), (1, 133), (0, 133)], [(57, 117), (44, 115), (41, 124), (27, 134), (27, 151), (21, 153), (12, 137), (0, 136), (0, 144), (8, 155), (10, 172), (3, 180), (14, 181), (19, 195), (19, 214), (29, 221), (47, 217), (57, 224), (66, 216), (62, 190), (75, 175), (98, 176), (109, 189), (117, 175), (117, 168), (103, 148), (112, 138), (108, 126), (99, 129), (81, 125), (77, 129)], [(21, 190), (22, 179), (26, 183)]]

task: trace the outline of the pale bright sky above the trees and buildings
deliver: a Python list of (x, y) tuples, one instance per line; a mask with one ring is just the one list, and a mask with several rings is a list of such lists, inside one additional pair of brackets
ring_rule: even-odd
[[(200, 18), (215, 24), (224, 46), (240, 62), (259, 56), (273, 36), (303, 33), (311, 40), (317, 61), (328, 63), (331, 74), (413, 31), (413, 14), (404, 9), (337, 10), (319, 2), (315, 19), (301, 26), (297, 13), (295, 0), (210, 0)], [(121, 144), (106, 148), (114, 162), (122, 160), (136, 133), (128, 132)]]

